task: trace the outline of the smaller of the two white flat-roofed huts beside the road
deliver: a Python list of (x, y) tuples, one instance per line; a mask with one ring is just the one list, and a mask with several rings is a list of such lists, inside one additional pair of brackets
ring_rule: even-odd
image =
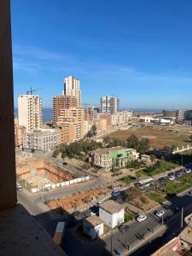
[(103, 232), (104, 224), (101, 218), (95, 215), (84, 219), (84, 233), (90, 236), (91, 239), (102, 236)]

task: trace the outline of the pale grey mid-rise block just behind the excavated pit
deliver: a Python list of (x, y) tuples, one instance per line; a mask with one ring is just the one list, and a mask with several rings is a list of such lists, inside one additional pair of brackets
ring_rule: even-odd
[(23, 149), (26, 152), (45, 153), (54, 150), (58, 144), (59, 134), (53, 129), (26, 132), (23, 135)]

